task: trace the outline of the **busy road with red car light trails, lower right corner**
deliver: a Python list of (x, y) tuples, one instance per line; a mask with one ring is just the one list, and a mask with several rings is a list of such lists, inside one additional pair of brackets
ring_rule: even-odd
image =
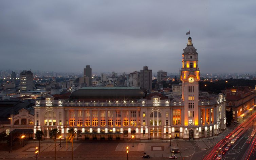
[[(207, 150), (202, 157), (203, 160), (216, 160), (218, 155), (221, 156), (221, 151), (226, 146), (231, 145), (230, 149), (222, 154), (222, 159), (248, 159), (255, 160), (256, 158), (256, 136), (252, 136), (250, 143), (246, 143), (248, 138), (256, 127), (256, 113), (246, 119), (242, 124), (237, 126), (230, 134), (220, 140), (216, 145)], [(234, 142), (234, 143), (232, 143)]]

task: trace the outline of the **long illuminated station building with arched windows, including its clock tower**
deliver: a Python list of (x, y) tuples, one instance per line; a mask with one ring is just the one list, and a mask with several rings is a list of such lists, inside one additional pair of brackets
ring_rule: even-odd
[[(197, 53), (191, 38), (188, 41), (182, 60), (182, 98), (169, 100), (158, 92), (147, 96), (143, 87), (84, 87), (69, 99), (38, 99), (34, 133), (42, 130), (49, 139), (53, 128), (62, 135), (74, 128), (76, 138), (85, 140), (130, 139), (131, 135), (139, 140), (198, 139), (220, 134), (226, 128), (225, 96), (198, 96)], [(147, 67), (142, 72), (151, 79)]]

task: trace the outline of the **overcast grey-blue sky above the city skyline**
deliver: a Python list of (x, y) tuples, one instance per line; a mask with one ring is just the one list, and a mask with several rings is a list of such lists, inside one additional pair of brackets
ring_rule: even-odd
[(0, 1), (0, 70), (255, 73), (256, 1)]

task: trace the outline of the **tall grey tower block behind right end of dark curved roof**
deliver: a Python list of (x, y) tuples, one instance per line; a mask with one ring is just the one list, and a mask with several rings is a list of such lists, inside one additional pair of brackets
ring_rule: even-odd
[(145, 88), (151, 92), (152, 90), (152, 70), (148, 69), (148, 66), (144, 66), (141, 70), (140, 84), (142, 88)]

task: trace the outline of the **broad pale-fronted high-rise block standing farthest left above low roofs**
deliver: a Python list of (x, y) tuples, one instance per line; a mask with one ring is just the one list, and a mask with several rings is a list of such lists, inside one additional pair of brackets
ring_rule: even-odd
[(33, 73), (31, 71), (20, 72), (20, 91), (33, 90), (35, 87), (33, 78)]

